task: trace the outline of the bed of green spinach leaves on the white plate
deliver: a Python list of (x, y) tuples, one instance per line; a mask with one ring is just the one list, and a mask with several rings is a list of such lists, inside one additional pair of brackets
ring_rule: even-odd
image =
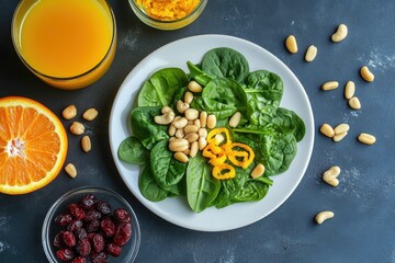
[[(212, 206), (223, 208), (262, 199), (273, 183), (270, 178), (289, 169), (296, 156), (297, 141), (305, 135), (302, 118), (280, 107), (284, 90), (281, 78), (267, 70), (250, 72), (244, 55), (227, 47), (208, 50), (199, 64), (185, 62), (189, 72), (163, 68), (144, 82), (137, 105), (129, 115), (133, 135), (120, 145), (120, 159), (142, 165), (138, 187), (143, 196), (153, 202), (183, 196), (191, 209), (199, 213)], [(191, 81), (199, 83), (202, 90), (191, 92)], [(177, 104), (184, 100), (185, 93), (193, 94), (189, 108), (215, 116), (215, 128), (225, 130), (229, 140), (237, 142), (235, 146), (248, 146), (253, 151), (253, 160), (250, 155), (248, 165), (234, 165), (225, 158), (221, 164), (215, 164), (234, 170), (232, 178), (213, 176), (215, 167), (204, 156), (205, 145), (199, 144), (193, 155), (192, 146), (184, 151), (185, 156), (191, 152), (188, 161), (174, 158), (169, 147), (171, 140), (177, 139), (169, 132), (173, 124), (158, 124), (156, 117), (163, 114), (165, 107), (171, 108), (173, 115), (169, 116), (176, 115), (174, 119), (183, 116)], [(237, 125), (229, 125), (235, 113), (239, 116)], [(198, 128), (204, 128), (208, 135), (214, 129), (198, 123)], [(235, 147), (235, 151), (239, 150), (235, 153), (235, 162), (248, 158), (241, 148)], [(217, 141), (217, 149), (224, 149), (221, 141)], [(258, 164), (264, 167), (264, 172), (251, 176)], [(229, 169), (224, 169), (224, 173)]]

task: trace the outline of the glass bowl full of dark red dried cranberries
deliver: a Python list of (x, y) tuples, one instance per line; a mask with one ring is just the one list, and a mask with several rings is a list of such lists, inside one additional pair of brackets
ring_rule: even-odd
[(60, 196), (43, 224), (49, 262), (133, 262), (140, 243), (137, 217), (117, 193), (80, 187)]

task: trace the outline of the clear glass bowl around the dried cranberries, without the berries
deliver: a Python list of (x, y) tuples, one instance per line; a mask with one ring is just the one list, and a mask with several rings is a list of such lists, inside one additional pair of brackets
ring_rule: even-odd
[(49, 208), (47, 215), (45, 216), (43, 230), (42, 230), (42, 243), (44, 248), (45, 255), (50, 263), (60, 262), (56, 258), (56, 248), (54, 245), (55, 236), (65, 227), (60, 227), (55, 222), (55, 218), (66, 211), (66, 207), (70, 203), (76, 203), (81, 199), (82, 196), (87, 194), (93, 194), (98, 201), (103, 201), (110, 204), (112, 211), (116, 208), (124, 208), (128, 211), (132, 219), (132, 237), (125, 245), (122, 247), (122, 253), (120, 256), (109, 255), (109, 262), (114, 263), (132, 263), (137, 256), (137, 252), (140, 244), (140, 229), (137, 221), (136, 214), (134, 213), (131, 205), (117, 193), (106, 190), (103, 187), (79, 187), (72, 191), (69, 191), (61, 195), (54, 205)]

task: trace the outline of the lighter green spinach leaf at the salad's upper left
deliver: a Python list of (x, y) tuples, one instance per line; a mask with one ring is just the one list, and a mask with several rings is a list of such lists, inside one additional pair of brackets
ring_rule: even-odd
[(138, 106), (166, 106), (172, 102), (174, 92), (188, 84), (182, 69), (165, 68), (156, 71), (138, 93)]

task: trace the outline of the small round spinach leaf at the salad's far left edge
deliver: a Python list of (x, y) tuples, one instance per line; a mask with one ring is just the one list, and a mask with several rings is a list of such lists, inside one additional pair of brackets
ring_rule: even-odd
[(117, 155), (121, 160), (132, 164), (145, 164), (149, 161), (149, 151), (135, 136), (129, 136), (121, 142)]

